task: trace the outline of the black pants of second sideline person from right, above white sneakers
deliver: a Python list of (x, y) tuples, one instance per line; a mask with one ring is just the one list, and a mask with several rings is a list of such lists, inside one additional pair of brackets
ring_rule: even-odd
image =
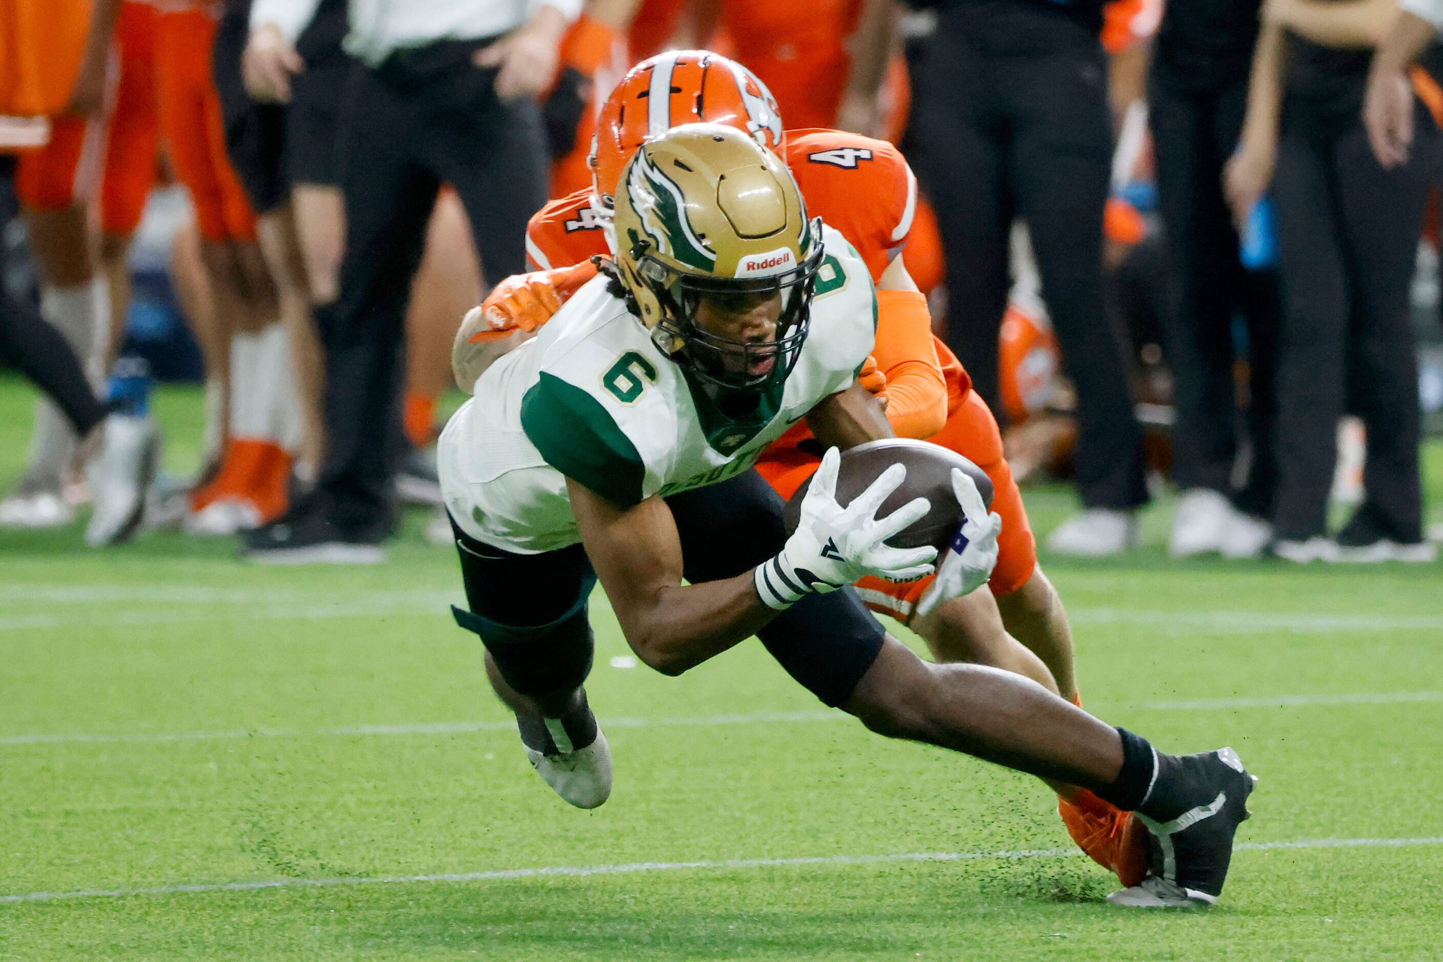
[[(1175, 384), (1173, 477), (1179, 487), (1234, 495), (1248, 513), (1271, 518), (1277, 487), (1277, 273), (1244, 270), (1222, 196), (1247, 108), (1247, 78), (1215, 89), (1176, 91), (1154, 76), (1149, 94), (1157, 198), (1166, 228), (1173, 303), (1162, 313)], [(1247, 485), (1232, 492), (1238, 417), (1232, 320), (1247, 325), (1251, 371)]]

